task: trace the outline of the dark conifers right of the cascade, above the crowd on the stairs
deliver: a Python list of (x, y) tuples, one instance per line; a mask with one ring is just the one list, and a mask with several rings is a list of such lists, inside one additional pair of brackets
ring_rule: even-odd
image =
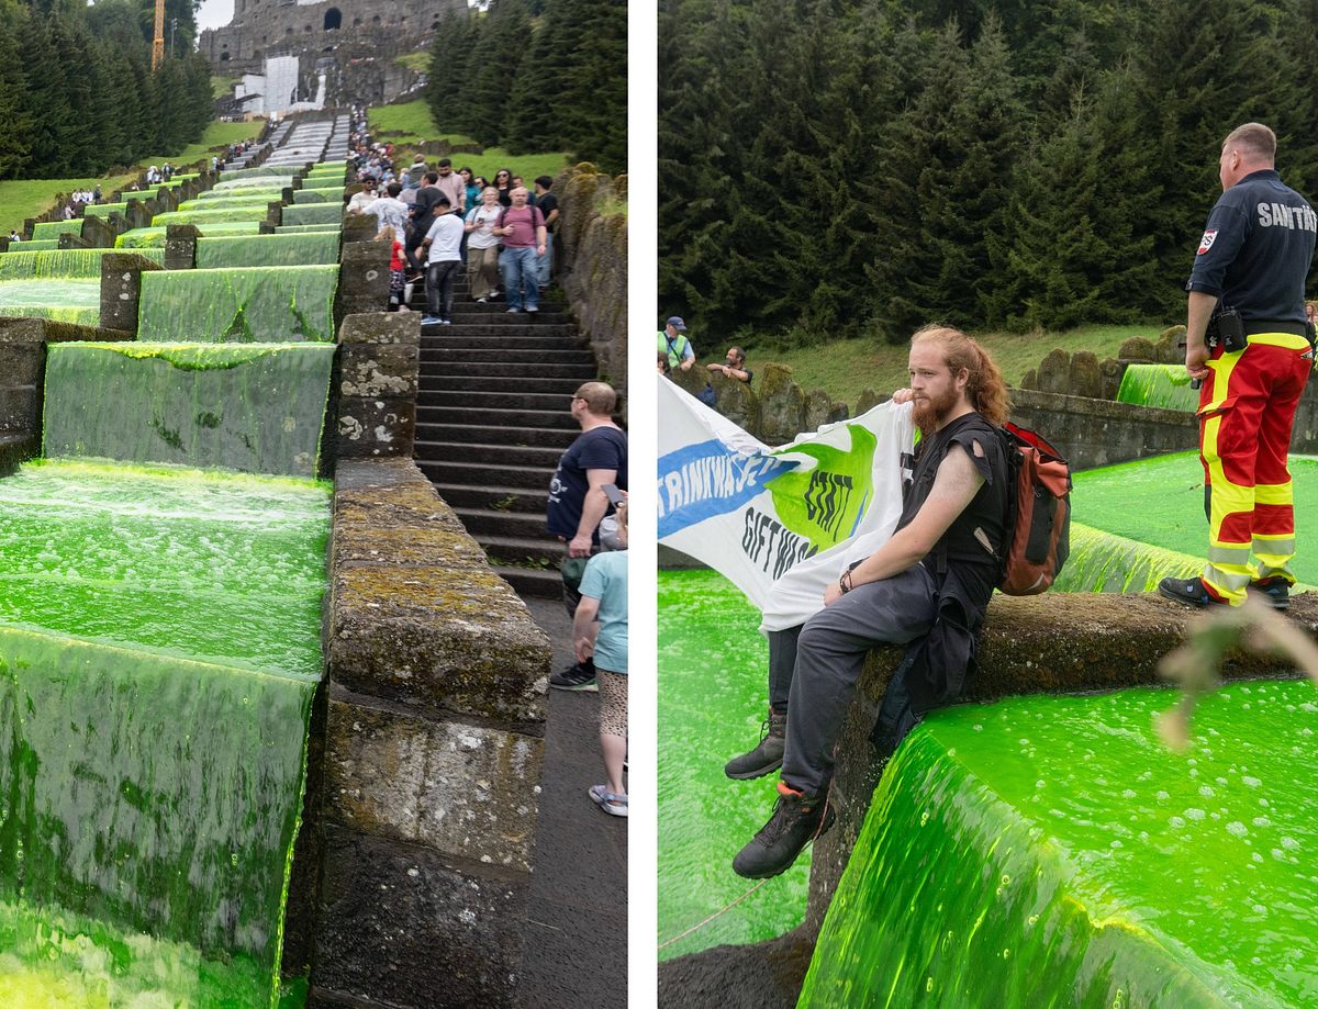
[(440, 22), (431, 58), (427, 100), (445, 129), (626, 169), (623, 0), (492, 0)]

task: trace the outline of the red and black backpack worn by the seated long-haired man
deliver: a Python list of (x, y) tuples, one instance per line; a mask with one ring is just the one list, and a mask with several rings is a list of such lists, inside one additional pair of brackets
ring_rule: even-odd
[(1002, 429), (1011, 487), (1011, 547), (998, 589), (1037, 595), (1057, 578), (1070, 553), (1070, 466), (1041, 435), (1008, 422)]

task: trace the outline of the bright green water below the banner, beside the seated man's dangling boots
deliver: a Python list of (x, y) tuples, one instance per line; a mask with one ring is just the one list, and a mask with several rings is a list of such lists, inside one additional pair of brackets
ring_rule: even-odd
[[(659, 572), (659, 941), (741, 897), (729, 865), (774, 806), (774, 777), (729, 781), (724, 761), (759, 739), (768, 647), (759, 611), (710, 570)], [(770, 939), (805, 913), (801, 859), (770, 886), (664, 947), (659, 959)]]

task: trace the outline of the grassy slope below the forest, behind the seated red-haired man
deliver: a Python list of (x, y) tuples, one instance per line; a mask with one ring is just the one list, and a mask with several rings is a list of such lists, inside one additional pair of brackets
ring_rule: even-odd
[[(1010, 385), (1016, 385), (1025, 371), (1053, 348), (1062, 350), (1093, 350), (1098, 360), (1115, 357), (1118, 348), (1132, 336), (1156, 340), (1157, 335), (1176, 320), (1149, 325), (1087, 325), (1064, 333), (973, 333), (1002, 368)], [(718, 341), (702, 333), (691, 333), (692, 345), (700, 362), (721, 361), (730, 341)], [(792, 378), (807, 391), (824, 389), (834, 399), (854, 404), (861, 391), (869, 386), (887, 394), (907, 383), (907, 348), (880, 344), (874, 340), (838, 340), (826, 346), (799, 350), (753, 349), (747, 352), (751, 370), (768, 361), (788, 365)]]

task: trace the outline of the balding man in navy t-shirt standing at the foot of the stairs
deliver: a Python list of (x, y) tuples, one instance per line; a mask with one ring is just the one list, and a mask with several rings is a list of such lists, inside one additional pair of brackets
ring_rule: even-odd
[[(525, 190), (522, 190), (525, 192)], [(584, 570), (587, 559), (600, 545), (600, 522), (609, 511), (604, 487), (613, 483), (627, 489), (627, 436), (613, 423), (618, 394), (604, 382), (587, 382), (572, 396), (572, 419), (581, 425), (581, 433), (559, 460), (559, 468), (550, 481), (550, 501), (546, 508), (546, 527), (567, 545), (567, 557), (579, 559)], [(568, 616), (576, 615), (581, 602), (580, 578), (568, 578), (564, 565), (563, 602)], [(585, 659), (561, 673), (550, 677), (556, 690), (598, 690), (594, 661)]]

